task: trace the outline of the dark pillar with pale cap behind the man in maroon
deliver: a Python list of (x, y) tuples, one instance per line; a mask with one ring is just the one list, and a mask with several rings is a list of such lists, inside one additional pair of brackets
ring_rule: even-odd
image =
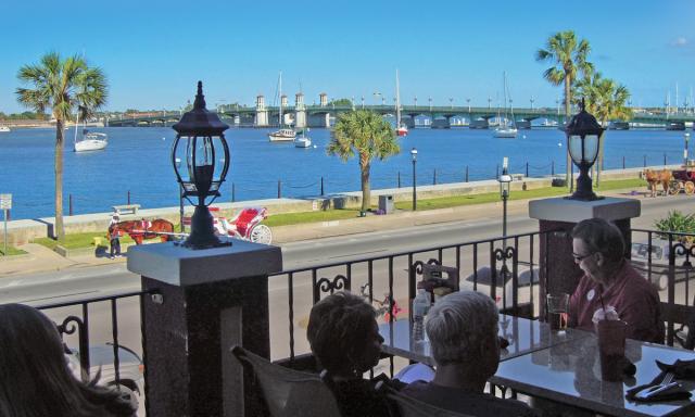
[[(630, 219), (639, 217), (641, 203), (634, 199), (617, 199), (607, 197), (596, 201), (578, 201), (564, 198), (531, 201), (529, 217), (539, 219), (541, 233), (540, 244), (540, 307), (541, 317), (545, 316), (545, 294), (548, 292), (574, 292), (582, 270), (574, 264), (572, 256), (572, 238), (570, 231), (579, 222), (586, 218), (604, 218), (610, 220), (622, 231), (626, 240), (626, 256), (630, 256), (632, 237)], [(547, 257), (547, 258), (546, 258)], [(545, 266), (547, 264), (547, 276)]]

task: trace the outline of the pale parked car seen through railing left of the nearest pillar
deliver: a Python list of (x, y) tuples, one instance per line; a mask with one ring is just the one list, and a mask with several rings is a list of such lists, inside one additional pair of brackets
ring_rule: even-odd
[[(65, 355), (68, 358), (67, 366), (76, 378), (80, 378), (81, 370), (79, 364), (79, 351), (77, 349), (65, 346)], [(121, 391), (130, 394), (132, 401), (138, 404), (143, 395), (143, 371), (144, 365), (140, 356), (132, 350), (118, 345), (118, 377), (121, 382)], [(101, 372), (101, 374), (100, 374)], [(114, 367), (113, 343), (89, 346), (89, 376), (91, 381), (93, 378), (100, 386), (115, 387), (116, 371)]]

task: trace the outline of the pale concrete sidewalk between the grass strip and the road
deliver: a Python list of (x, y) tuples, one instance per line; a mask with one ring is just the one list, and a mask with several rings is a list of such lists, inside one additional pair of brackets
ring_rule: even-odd
[[(605, 193), (605, 195), (627, 197), (626, 191), (629, 192), (630, 190), (611, 191)], [(643, 194), (640, 193), (631, 197), (642, 199)], [(509, 201), (508, 215), (515, 216), (528, 213), (529, 201), (530, 200)], [(410, 211), (402, 211), (390, 215), (369, 215), (362, 218), (274, 227), (273, 243), (282, 245), (282, 243), (294, 241), (350, 236), (378, 230), (393, 230), (439, 223), (500, 219), (501, 215), (502, 202), (429, 210), (415, 213)], [(97, 255), (93, 249), (76, 250), (67, 257), (63, 257), (46, 247), (36, 243), (26, 243), (21, 245), (20, 249), (26, 251), (27, 254), (10, 256), (8, 258), (0, 256), (0, 278), (11, 277), (18, 274), (46, 273), (65, 268), (124, 263), (127, 260), (127, 257), (110, 260), (103, 254)], [(125, 248), (124, 253), (127, 253), (127, 249)]]

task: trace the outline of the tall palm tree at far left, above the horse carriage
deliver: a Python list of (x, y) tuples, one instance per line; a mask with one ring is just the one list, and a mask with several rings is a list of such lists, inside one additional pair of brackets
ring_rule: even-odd
[[(63, 142), (65, 122), (72, 121), (73, 110), (85, 119), (106, 101), (108, 87), (103, 72), (90, 67), (84, 58), (61, 59), (58, 52), (41, 56), (38, 64), (20, 68), (17, 78), (31, 88), (17, 88), (17, 101), (45, 114), (50, 110), (55, 119), (55, 225), (54, 237), (65, 238), (63, 227)], [(77, 126), (75, 126), (77, 128)]]

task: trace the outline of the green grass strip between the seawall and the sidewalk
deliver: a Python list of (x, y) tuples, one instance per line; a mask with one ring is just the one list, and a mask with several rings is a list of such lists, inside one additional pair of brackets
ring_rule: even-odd
[[(633, 188), (635, 190), (644, 191), (646, 187), (646, 182), (642, 179), (624, 179), (624, 180), (612, 180), (612, 181), (604, 181), (601, 187), (596, 188), (596, 191), (610, 191), (610, 190), (620, 190), (620, 189), (630, 189)], [(568, 191), (565, 187), (547, 187), (540, 188), (535, 190), (528, 191), (513, 191), (509, 200), (531, 200), (531, 199), (541, 199), (548, 197), (560, 197), (567, 195)], [(435, 210), (435, 208), (447, 208), (455, 207), (459, 205), (470, 205), (470, 204), (484, 204), (500, 201), (498, 192), (489, 192), (484, 194), (471, 194), (471, 195), (456, 195), (456, 197), (445, 197), (439, 199), (422, 199), (417, 201), (417, 210)], [(413, 203), (410, 201), (401, 201), (395, 203), (395, 207), (400, 210), (410, 210), (413, 207)], [(372, 207), (376, 208), (376, 207)], [(330, 220), (341, 220), (346, 218), (356, 218), (359, 216), (359, 210), (357, 208), (345, 208), (345, 210), (326, 210), (318, 212), (302, 212), (302, 213), (283, 213), (276, 214), (269, 216), (264, 224), (268, 227), (276, 226), (288, 226), (288, 225), (300, 225), (306, 223), (318, 223), (318, 222), (330, 222)], [(176, 231), (180, 231), (180, 225), (175, 226)], [(65, 236), (65, 242), (63, 247), (66, 249), (79, 249), (79, 248), (90, 248), (93, 247), (94, 238), (101, 238), (101, 245), (109, 247), (109, 240), (106, 239), (105, 230), (103, 232), (85, 232), (85, 233), (71, 233)], [(49, 249), (54, 249), (58, 242), (50, 238), (40, 238), (35, 239), (35, 243), (42, 244)], [(127, 235), (121, 238), (121, 244), (127, 245), (132, 243), (132, 239)], [(1, 251), (1, 248), (0, 248)], [(11, 251), (8, 251), (12, 253)]]

